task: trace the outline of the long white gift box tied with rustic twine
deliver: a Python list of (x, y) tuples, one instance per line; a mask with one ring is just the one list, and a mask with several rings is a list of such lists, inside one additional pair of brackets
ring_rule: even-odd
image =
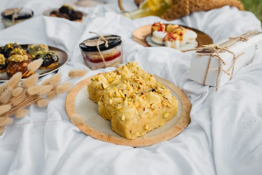
[(196, 50), (192, 53), (190, 79), (218, 89), (262, 50), (262, 32), (251, 31)]

